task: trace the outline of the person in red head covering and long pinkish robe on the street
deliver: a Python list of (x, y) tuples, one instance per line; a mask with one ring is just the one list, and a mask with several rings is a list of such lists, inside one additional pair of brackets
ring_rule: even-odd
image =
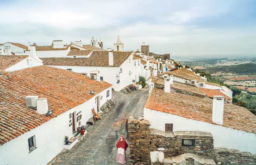
[(128, 144), (126, 140), (124, 140), (124, 135), (121, 135), (120, 139), (116, 143), (117, 147), (117, 154), (116, 154), (116, 161), (120, 164), (126, 164), (126, 149), (128, 147)]

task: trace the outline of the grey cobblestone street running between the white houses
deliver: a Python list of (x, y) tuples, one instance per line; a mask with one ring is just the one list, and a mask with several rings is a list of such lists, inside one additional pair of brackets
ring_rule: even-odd
[[(102, 120), (98, 120), (85, 137), (71, 150), (63, 150), (53, 160), (52, 165), (117, 165), (116, 143), (120, 135), (126, 137), (125, 118), (133, 116), (138, 119), (143, 115), (143, 109), (148, 98), (146, 86), (130, 94), (112, 92), (115, 105)], [(113, 123), (124, 121), (118, 132), (113, 130)], [(128, 141), (129, 144), (129, 141)], [(126, 151), (127, 165), (129, 165), (129, 147)]]

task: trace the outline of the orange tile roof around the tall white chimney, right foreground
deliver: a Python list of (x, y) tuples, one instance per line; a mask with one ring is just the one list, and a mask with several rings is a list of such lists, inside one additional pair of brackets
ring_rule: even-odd
[[(166, 93), (162, 89), (153, 88), (145, 107), (215, 124), (212, 122), (212, 102), (209, 99), (175, 92)], [(256, 133), (256, 116), (244, 107), (224, 103), (222, 126)]]

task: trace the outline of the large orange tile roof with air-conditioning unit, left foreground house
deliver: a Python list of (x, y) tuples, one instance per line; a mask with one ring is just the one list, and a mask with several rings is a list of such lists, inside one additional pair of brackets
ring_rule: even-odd
[[(104, 81), (97, 82), (82, 74), (50, 66), (3, 72), (0, 82), (0, 145), (112, 86)], [(89, 94), (91, 90), (95, 91), (94, 95)], [(52, 115), (47, 117), (46, 114), (36, 113), (35, 109), (26, 107), (25, 96), (28, 95), (47, 98), (48, 109), (54, 109)]]

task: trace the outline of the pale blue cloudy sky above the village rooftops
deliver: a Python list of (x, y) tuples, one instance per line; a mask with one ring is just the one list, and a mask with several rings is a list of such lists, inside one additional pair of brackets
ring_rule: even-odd
[(0, 43), (101, 38), (172, 56), (256, 55), (255, 0), (0, 0)]

